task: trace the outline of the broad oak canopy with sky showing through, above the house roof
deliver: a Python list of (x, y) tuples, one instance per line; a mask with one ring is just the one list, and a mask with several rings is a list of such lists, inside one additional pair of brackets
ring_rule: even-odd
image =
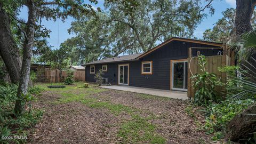
[(157, 41), (173, 36), (193, 37), (194, 29), (205, 16), (198, 15), (199, 0), (109, 0), (104, 6), (106, 11), (72, 22), (69, 33), (76, 36), (65, 41), (74, 48), (70, 54), (72, 62), (145, 52), (155, 47)]

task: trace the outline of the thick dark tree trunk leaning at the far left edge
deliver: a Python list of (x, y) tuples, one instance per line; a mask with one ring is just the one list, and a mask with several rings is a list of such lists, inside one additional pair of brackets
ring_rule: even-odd
[(12, 83), (20, 79), (21, 58), (19, 49), (11, 34), (9, 15), (2, 10), (0, 3), (0, 54), (10, 75)]

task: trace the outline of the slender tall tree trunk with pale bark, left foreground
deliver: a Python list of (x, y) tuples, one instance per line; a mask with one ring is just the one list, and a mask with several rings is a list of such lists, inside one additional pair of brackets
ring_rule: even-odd
[(20, 83), (18, 87), (17, 97), (18, 100), (15, 102), (14, 111), (20, 115), (26, 104), (26, 100), (23, 95), (27, 94), (29, 74), (30, 74), (30, 61), (32, 57), (32, 48), (34, 43), (35, 25), (36, 25), (36, 7), (33, 0), (27, 0), (28, 6), (28, 22), (26, 25), (26, 40), (23, 48), (23, 60), (20, 73)]

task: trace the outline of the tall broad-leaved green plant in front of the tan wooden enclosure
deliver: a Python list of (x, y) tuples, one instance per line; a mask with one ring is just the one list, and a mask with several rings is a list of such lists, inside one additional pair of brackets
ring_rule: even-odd
[(219, 102), (221, 98), (217, 95), (215, 87), (220, 85), (221, 82), (215, 74), (210, 74), (205, 70), (206, 60), (204, 55), (198, 57), (198, 64), (201, 66), (202, 72), (191, 76), (193, 87), (196, 90), (195, 102), (199, 105)]

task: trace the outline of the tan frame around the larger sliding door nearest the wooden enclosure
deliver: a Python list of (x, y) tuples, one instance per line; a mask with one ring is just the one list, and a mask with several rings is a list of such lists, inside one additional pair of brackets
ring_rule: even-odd
[[(173, 63), (180, 63), (180, 62), (183, 62), (183, 65), (184, 65), (184, 70), (183, 70), (183, 89), (179, 89), (179, 88), (174, 88), (173, 87), (173, 76), (174, 76), (174, 70), (173, 70), (173, 68), (174, 68), (174, 65), (173, 65)], [(188, 60), (187, 59), (181, 59), (181, 60), (171, 60), (171, 90), (177, 90), (177, 91), (188, 91), (188, 89), (185, 89), (185, 81), (186, 81), (186, 79), (185, 79), (185, 69), (186, 69), (186, 65), (185, 65), (185, 62), (188, 62)]]

